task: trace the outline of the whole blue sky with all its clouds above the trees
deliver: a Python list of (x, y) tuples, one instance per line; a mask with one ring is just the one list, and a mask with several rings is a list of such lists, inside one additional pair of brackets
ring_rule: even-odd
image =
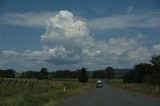
[(159, 0), (0, 0), (0, 69), (132, 68), (153, 55)]

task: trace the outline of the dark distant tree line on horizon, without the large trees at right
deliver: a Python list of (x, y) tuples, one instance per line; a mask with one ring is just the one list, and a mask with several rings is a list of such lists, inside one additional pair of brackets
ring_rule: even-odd
[[(87, 82), (88, 78), (108, 78), (111, 79), (114, 76), (114, 71), (112, 67), (107, 67), (103, 70), (97, 70), (93, 72), (87, 71), (85, 67), (77, 69), (75, 71), (71, 70), (57, 70), (55, 72), (48, 72), (47, 68), (42, 68), (40, 71), (26, 71), (22, 72), (18, 78), (27, 79), (52, 79), (52, 78), (78, 78), (79, 82)], [(16, 71), (12, 69), (0, 70), (0, 77), (2, 78), (15, 78)]]

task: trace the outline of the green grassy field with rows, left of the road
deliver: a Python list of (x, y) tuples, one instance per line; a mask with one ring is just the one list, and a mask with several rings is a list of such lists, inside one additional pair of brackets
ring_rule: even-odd
[(0, 106), (54, 106), (93, 86), (93, 80), (81, 84), (76, 79), (0, 79)]

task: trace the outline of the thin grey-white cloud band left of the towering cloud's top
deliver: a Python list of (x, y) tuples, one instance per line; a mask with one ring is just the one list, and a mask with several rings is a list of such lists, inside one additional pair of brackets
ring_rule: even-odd
[(56, 12), (7, 13), (0, 17), (0, 24), (24, 27), (44, 27), (46, 20)]

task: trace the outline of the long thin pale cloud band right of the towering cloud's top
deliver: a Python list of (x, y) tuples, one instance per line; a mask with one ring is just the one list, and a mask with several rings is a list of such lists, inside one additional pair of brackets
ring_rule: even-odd
[[(129, 8), (129, 12), (132, 7)], [(109, 30), (123, 28), (158, 28), (160, 27), (160, 13), (157, 14), (124, 14), (100, 17), (88, 20), (88, 25), (94, 30)]]

